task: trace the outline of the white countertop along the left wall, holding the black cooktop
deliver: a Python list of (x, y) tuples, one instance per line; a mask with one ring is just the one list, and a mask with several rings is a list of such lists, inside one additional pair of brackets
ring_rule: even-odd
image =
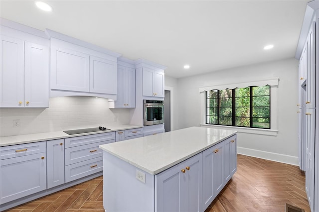
[[(87, 127), (78, 127), (76, 129), (91, 128), (91, 127), (98, 127), (98, 126), (99, 125), (94, 125), (94, 126), (90, 125)], [(70, 138), (70, 137), (77, 137), (77, 136), (83, 136), (83, 135), (92, 135), (97, 133), (114, 132), (119, 130), (143, 127), (138, 125), (105, 125), (105, 124), (101, 126), (111, 130), (81, 133), (81, 134), (74, 134), (74, 135), (68, 135), (63, 131), (56, 131), (56, 132), (43, 132), (43, 133), (34, 133), (34, 134), (26, 134), (26, 135), (6, 136), (6, 137), (0, 137), (0, 146), (9, 146), (9, 145), (32, 143), (32, 142), (38, 142), (38, 141), (55, 140), (60, 138)]]

